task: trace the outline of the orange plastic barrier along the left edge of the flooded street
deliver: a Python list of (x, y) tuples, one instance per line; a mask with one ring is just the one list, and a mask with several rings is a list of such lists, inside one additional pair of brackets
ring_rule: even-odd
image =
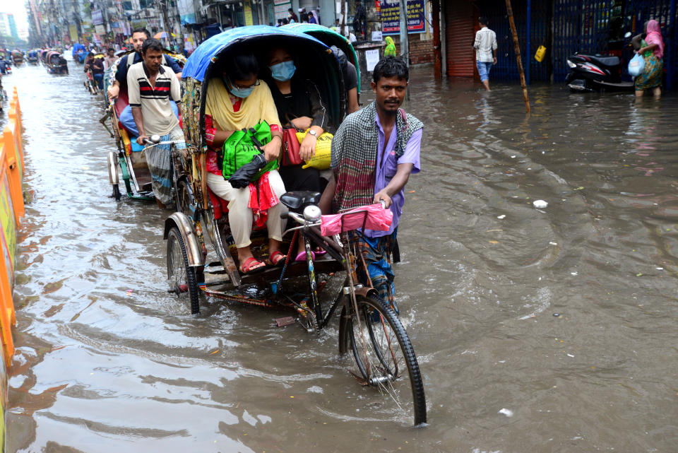
[(14, 353), (12, 326), (16, 324), (12, 293), (16, 264), (16, 231), (24, 215), (23, 206), (23, 143), (21, 110), (14, 88), (7, 112), (8, 124), (0, 136), (0, 335), (6, 366)]

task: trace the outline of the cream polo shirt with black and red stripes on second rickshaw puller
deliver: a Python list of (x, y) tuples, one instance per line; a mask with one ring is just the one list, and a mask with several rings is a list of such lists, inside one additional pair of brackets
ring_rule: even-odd
[(146, 135), (167, 135), (179, 126), (169, 102), (181, 101), (181, 88), (172, 69), (160, 66), (155, 77), (155, 86), (150, 84), (148, 69), (143, 61), (133, 64), (127, 71), (127, 95), (129, 106), (141, 108), (143, 129)]

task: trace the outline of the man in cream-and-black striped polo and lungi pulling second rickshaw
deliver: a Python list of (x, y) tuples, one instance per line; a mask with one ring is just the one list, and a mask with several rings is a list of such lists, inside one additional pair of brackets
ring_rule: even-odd
[[(127, 88), (132, 117), (139, 131), (137, 143), (145, 144), (149, 136), (159, 135), (160, 141), (184, 141), (179, 120), (172, 113), (170, 102), (181, 102), (181, 88), (169, 66), (162, 66), (162, 45), (150, 38), (141, 47), (143, 61), (133, 64), (127, 71)], [(176, 143), (184, 149), (186, 143)], [(146, 148), (146, 163), (153, 177), (153, 194), (157, 206), (164, 208), (172, 200), (171, 145)]]

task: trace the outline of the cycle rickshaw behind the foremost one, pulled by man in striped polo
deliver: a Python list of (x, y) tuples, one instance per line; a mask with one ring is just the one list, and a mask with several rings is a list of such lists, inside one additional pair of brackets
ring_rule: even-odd
[[(107, 129), (113, 139), (115, 139), (117, 151), (108, 153), (107, 166), (109, 182), (111, 183), (113, 194), (116, 201), (120, 201), (120, 178), (124, 183), (124, 190), (128, 198), (140, 200), (153, 200), (153, 189), (151, 187), (151, 176), (146, 164), (144, 146), (136, 143), (136, 136), (123, 127), (120, 122), (122, 111), (129, 105), (129, 98), (126, 90), (120, 90), (118, 97), (112, 101), (107, 98), (109, 86), (115, 81), (115, 73), (119, 64), (126, 64), (127, 55), (131, 52), (121, 54), (121, 56), (104, 73), (104, 95), (106, 96), (107, 109), (106, 114), (99, 121)], [(186, 57), (180, 54), (174, 54), (169, 50), (163, 50), (163, 53), (172, 57), (184, 66)], [(109, 120), (109, 122), (108, 122)], [(154, 146), (157, 143), (148, 143), (148, 146)], [(176, 165), (181, 165), (177, 162)], [(184, 170), (177, 170), (174, 175), (184, 173)], [(178, 181), (175, 180), (175, 184)], [(175, 187), (175, 194), (177, 193)]]

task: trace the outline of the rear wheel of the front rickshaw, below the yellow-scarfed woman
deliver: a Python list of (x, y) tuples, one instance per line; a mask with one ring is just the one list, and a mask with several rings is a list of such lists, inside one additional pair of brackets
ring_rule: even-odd
[(177, 227), (172, 227), (167, 235), (167, 282), (170, 292), (183, 303), (189, 303), (191, 314), (200, 312), (196, 270), (189, 266), (184, 238)]

